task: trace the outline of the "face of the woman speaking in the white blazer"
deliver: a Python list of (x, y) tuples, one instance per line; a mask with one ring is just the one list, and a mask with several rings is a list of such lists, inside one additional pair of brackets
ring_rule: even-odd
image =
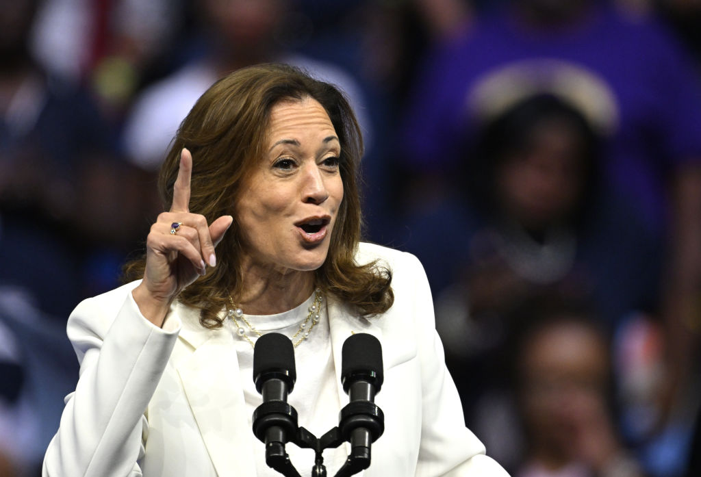
[(326, 260), (343, 200), (341, 144), (315, 99), (271, 110), (264, 155), (236, 204), (244, 267), (310, 271)]

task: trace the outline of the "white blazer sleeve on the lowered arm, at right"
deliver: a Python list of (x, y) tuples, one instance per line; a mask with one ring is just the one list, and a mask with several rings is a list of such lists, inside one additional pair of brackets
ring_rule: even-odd
[[(409, 255), (409, 254), (407, 254)], [(508, 477), (484, 445), (465, 427), (455, 383), (445, 365), (443, 345), (435, 331), (433, 300), (426, 273), (412, 255), (417, 352), (421, 362), (423, 396), (421, 443), (416, 477)]]

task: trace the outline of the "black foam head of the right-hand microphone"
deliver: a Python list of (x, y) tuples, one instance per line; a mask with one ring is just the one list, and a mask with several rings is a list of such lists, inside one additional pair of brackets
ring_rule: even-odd
[(353, 380), (372, 382), (376, 392), (380, 391), (384, 380), (382, 366), (382, 346), (380, 341), (367, 333), (351, 335), (341, 348), (341, 382), (343, 390)]

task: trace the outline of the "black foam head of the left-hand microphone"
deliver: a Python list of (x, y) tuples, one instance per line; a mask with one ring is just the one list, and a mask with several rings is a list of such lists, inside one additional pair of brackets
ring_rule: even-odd
[(261, 392), (263, 381), (269, 378), (287, 381), (290, 391), (297, 380), (292, 341), (280, 333), (266, 333), (253, 347), (253, 381), (258, 392)]

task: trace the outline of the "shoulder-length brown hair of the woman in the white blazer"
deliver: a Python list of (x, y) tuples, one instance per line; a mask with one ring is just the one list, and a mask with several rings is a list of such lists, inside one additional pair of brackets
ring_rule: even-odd
[[(376, 262), (355, 263), (362, 218), (358, 192), (358, 163), (362, 136), (348, 100), (333, 85), (283, 64), (261, 64), (234, 71), (217, 81), (183, 120), (161, 166), (159, 190), (166, 209), (172, 202), (179, 155), (193, 156), (190, 211), (211, 223), (233, 215), (233, 223), (217, 249), (217, 267), (190, 284), (178, 299), (200, 309), (200, 323), (219, 328), (219, 312), (236, 300), (243, 288), (238, 257), (243, 254), (241, 232), (233, 214), (242, 182), (263, 157), (270, 111), (284, 100), (311, 97), (326, 110), (341, 143), (339, 167), (343, 201), (331, 235), (329, 255), (315, 271), (315, 284), (327, 295), (351, 305), (362, 317), (388, 310), (394, 303), (392, 273)], [(125, 265), (125, 279), (141, 278), (145, 255)]]

